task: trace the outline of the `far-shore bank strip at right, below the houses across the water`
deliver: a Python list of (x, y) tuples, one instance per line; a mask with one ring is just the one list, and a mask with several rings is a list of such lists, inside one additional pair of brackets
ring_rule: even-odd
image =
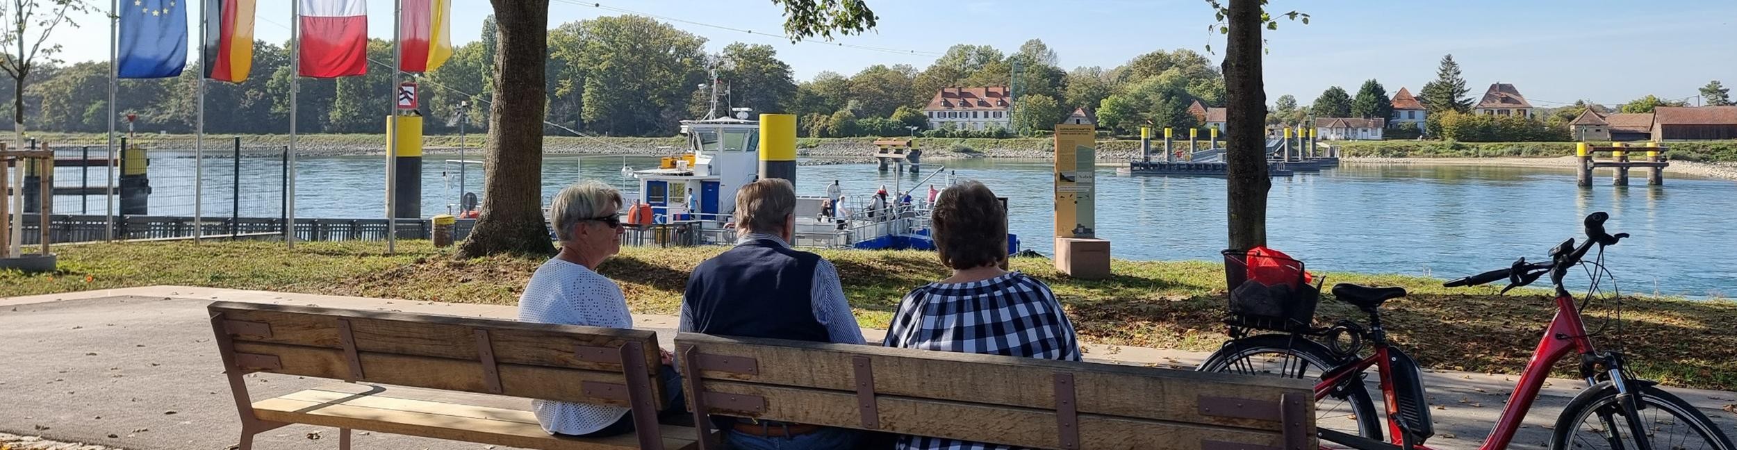
[[(1344, 156), (1377, 158), (1556, 158), (1575, 142), (1339, 141)], [(1605, 142), (1600, 142), (1605, 144)], [(1737, 141), (1666, 142), (1671, 160), (1737, 162)]]

